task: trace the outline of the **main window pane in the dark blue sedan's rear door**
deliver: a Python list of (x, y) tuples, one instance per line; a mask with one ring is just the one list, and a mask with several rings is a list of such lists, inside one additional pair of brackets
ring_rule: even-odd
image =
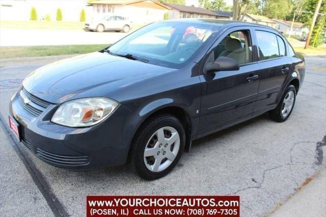
[(256, 30), (256, 38), (260, 60), (279, 57), (279, 45), (275, 34)]

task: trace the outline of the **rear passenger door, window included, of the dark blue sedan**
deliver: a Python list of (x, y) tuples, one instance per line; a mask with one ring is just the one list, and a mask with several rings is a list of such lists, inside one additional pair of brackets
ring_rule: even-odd
[(284, 39), (273, 30), (254, 28), (260, 71), (254, 115), (275, 108), (282, 95), (282, 86), (290, 71)]

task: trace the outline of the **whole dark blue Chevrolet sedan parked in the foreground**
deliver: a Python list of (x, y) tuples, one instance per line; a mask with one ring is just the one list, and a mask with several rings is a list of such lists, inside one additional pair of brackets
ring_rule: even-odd
[(304, 76), (304, 58), (268, 26), (160, 21), (32, 72), (11, 99), (10, 127), (53, 166), (129, 159), (141, 177), (157, 179), (195, 139), (266, 112), (286, 121)]

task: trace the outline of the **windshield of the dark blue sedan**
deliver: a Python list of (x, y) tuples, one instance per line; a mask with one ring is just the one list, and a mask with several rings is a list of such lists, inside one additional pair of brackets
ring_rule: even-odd
[(157, 22), (130, 34), (112, 45), (116, 55), (144, 58), (148, 63), (181, 68), (218, 27), (183, 22)]

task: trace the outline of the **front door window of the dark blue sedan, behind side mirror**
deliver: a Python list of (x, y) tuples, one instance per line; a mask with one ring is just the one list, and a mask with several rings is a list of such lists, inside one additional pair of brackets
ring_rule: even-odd
[(214, 60), (228, 57), (238, 64), (252, 62), (252, 42), (249, 31), (230, 33), (213, 49)]

